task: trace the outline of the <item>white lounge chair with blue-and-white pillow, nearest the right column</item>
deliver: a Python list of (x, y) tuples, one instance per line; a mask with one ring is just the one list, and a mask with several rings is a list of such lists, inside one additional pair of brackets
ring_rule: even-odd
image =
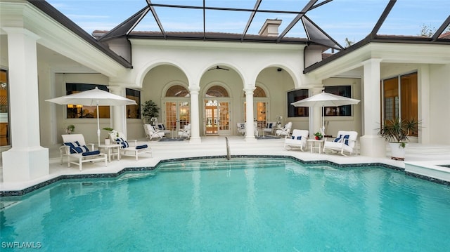
[[(356, 138), (358, 133), (356, 131), (338, 131), (337, 138), (325, 138), (323, 141), (324, 153), (340, 152), (342, 156), (357, 155)], [(328, 151), (328, 152), (327, 152)], [(347, 153), (347, 154), (346, 154)]]

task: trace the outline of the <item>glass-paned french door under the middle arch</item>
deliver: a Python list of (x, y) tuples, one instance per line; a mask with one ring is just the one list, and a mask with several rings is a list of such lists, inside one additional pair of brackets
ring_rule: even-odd
[(205, 100), (205, 135), (230, 134), (230, 102)]

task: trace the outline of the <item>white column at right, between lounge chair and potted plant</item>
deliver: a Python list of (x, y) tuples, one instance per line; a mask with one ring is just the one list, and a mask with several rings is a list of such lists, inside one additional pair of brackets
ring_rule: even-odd
[(380, 127), (380, 62), (381, 59), (370, 59), (363, 62), (364, 84), (362, 99), (362, 132), (361, 155), (368, 157), (386, 157), (386, 143), (378, 135)]

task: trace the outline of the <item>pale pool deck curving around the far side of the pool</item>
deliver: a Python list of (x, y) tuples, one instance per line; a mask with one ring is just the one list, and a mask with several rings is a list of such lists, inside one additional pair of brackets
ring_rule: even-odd
[[(406, 152), (406, 161), (395, 161), (389, 157), (373, 158), (364, 156), (343, 157), (340, 154), (319, 154), (311, 153), (309, 150), (301, 152), (300, 150), (285, 150), (283, 147), (284, 138), (280, 139), (261, 139), (246, 141), (243, 136), (229, 136), (229, 147), (231, 156), (290, 156), (302, 161), (330, 161), (339, 165), (347, 164), (385, 164), (401, 170), (406, 173), (417, 174), (422, 178), (436, 178), (450, 182), (450, 168), (441, 165), (450, 164), (450, 147), (427, 147), (420, 148), (416, 145), (411, 150), (411, 154)], [(41, 183), (54, 180), (62, 175), (90, 175), (90, 174), (115, 174), (120, 173), (124, 168), (151, 168), (165, 159), (181, 159), (191, 157), (226, 157), (226, 140), (223, 136), (205, 136), (201, 138), (200, 143), (184, 141), (165, 141), (158, 140), (147, 141), (139, 140), (139, 144), (147, 144), (153, 154), (143, 154), (136, 161), (134, 157), (121, 157), (104, 163), (84, 163), (83, 171), (79, 171), (78, 166), (67, 166), (67, 163), (60, 164), (59, 146), (49, 147), (49, 175), (35, 180), (20, 183), (4, 183), (3, 169), (0, 170), (0, 191), (21, 191), (34, 187)], [(436, 152), (436, 150), (439, 150)], [(423, 154), (420, 154), (423, 152)], [(430, 154), (432, 152), (433, 154)], [(432, 179), (431, 179), (432, 180)]]

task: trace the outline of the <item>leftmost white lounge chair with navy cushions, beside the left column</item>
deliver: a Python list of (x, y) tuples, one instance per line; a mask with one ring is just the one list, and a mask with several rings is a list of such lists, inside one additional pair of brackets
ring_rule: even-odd
[(100, 153), (99, 150), (94, 150), (93, 143), (89, 144), (91, 145), (89, 149), (82, 134), (61, 136), (64, 142), (64, 145), (59, 148), (61, 164), (63, 164), (63, 158), (67, 157), (68, 167), (70, 167), (70, 164), (76, 164), (79, 166), (79, 171), (82, 171), (85, 162), (105, 161), (105, 166), (108, 166), (107, 155)]

